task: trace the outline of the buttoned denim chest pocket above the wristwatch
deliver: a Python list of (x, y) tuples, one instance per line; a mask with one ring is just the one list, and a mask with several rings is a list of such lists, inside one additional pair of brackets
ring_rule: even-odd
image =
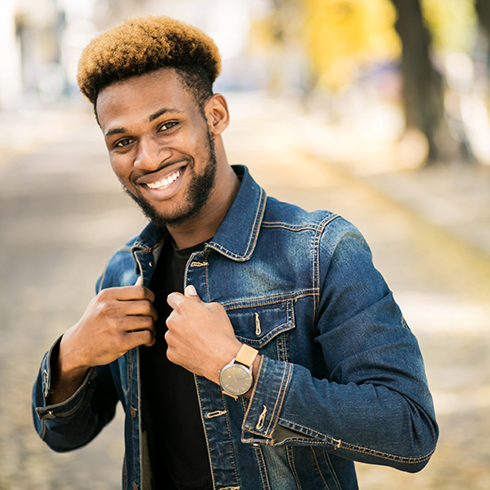
[(278, 361), (290, 360), (290, 331), (295, 328), (292, 300), (237, 306), (226, 313), (241, 342)]

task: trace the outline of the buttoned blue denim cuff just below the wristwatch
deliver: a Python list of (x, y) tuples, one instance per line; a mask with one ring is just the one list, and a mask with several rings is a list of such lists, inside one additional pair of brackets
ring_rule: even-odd
[(293, 364), (262, 355), (249, 406), (241, 427), (244, 443), (273, 444), (284, 397), (290, 385)]

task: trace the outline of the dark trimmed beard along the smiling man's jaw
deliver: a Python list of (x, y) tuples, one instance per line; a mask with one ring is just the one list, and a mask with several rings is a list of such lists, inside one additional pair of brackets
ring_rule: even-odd
[(136, 204), (142, 209), (144, 216), (151, 220), (153, 225), (163, 230), (167, 227), (175, 227), (188, 223), (193, 218), (199, 215), (200, 210), (204, 208), (208, 202), (209, 196), (216, 185), (216, 149), (212, 135), (207, 134), (205, 153), (208, 153), (206, 165), (202, 174), (194, 172), (193, 165), (189, 167), (191, 181), (187, 189), (184, 201), (179, 205), (172, 215), (164, 216), (159, 211), (151, 206), (141, 192), (131, 191), (127, 185), (122, 183), (123, 189), (127, 194), (135, 200)]

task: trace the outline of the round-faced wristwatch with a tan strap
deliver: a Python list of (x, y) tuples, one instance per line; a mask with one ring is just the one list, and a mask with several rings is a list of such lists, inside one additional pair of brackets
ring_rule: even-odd
[(249, 391), (253, 383), (251, 365), (257, 354), (255, 348), (242, 344), (232, 362), (219, 372), (219, 384), (226, 395), (238, 398)]

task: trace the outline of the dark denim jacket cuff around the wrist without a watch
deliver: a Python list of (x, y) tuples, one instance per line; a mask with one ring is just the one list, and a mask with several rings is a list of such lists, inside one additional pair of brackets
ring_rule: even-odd
[(90, 368), (86, 373), (84, 382), (72, 396), (70, 396), (64, 402), (61, 402), (61, 404), (46, 404), (46, 399), (52, 394), (51, 386), (53, 378), (53, 361), (56, 362), (58, 351), (60, 349), (61, 338), (62, 335), (56, 339), (41, 363), (43, 406), (36, 407), (37, 416), (41, 421), (56, 419), (58, 417), (66, 417), (67, 415), (75, 412), (82, 404), (88, 385), (97, 375), (95, 368)]

